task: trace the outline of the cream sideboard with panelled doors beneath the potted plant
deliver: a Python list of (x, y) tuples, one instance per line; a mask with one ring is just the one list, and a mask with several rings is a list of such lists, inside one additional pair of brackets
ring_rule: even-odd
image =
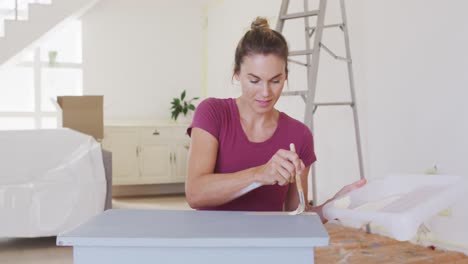
[(113, 185), (185, 181), (188, 125), (110, 123), (102, 146), (112, 152)]

